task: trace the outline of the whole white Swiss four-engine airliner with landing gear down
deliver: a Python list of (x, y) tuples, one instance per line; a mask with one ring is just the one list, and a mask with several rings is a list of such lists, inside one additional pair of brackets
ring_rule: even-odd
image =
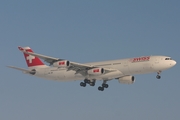
[[(160, 79), (160, 73), (163, 70), (169, 69), (176, 64), (175, 60), (167, 56), (142, 56), (81, 64), (37, 54), (30, 47), (18, 48), (24, 53), (28, 69), (14, 66), (8, 67), (49, 80), (84, 80), (80, 83), (82, 87), (85, 87), (87, 84), (95, 86), (96, 80), (103, 80), (102, 86), (98, 87), (100, 91), (108, 88), (107, 81), (112, 79), (117, 79), (123, 84), (132, 84), (135, 82), (135, 77), (133, 76), (135, 74), (156, 72), (156, 78)], [(49, 66), (45, 65), (40, 59), (49, 63)]]

